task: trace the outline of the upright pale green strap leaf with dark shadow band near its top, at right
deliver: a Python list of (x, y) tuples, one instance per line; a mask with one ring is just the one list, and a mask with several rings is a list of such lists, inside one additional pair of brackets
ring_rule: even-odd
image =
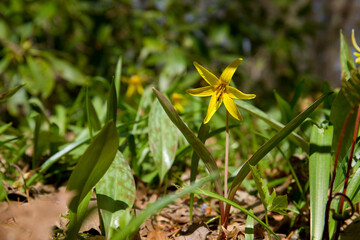
[(310, 138), (310, 238), (322, 239), (331, 170), (333, 127), (312, 127)]

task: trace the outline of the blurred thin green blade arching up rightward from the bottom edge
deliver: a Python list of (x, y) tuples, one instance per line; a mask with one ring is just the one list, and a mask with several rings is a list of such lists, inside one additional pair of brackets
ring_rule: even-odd
[(134, 217), (123, 230), (116, 232), (111, 239), (112, 240), (132, 239), (131, 236), (139, 229), (141, 224), (145, 222), (147, 218), (151, 217), (162, 208), (168, 206), (177, 198), (186, 196), (196, 188), (202, 187), (204, 184), (213, 180), (215, 177), (216, 176), (214, 175), (210, 175), (206, 178), (199, 180), (196, 183), (184, 187), (180, 192), (169, 194), (165, 197), (160, 198), (156, 202), (149, 204), (149, 206), (144, 211), (137, 214), (137, 216)]

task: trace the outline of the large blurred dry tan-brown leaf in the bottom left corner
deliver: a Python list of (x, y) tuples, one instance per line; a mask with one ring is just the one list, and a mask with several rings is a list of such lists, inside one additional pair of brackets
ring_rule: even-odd
[(52, 229), (67, 211), (72, 194), (43, 195), (28, 203), (0, 204), (0, 239), (50, 239)]

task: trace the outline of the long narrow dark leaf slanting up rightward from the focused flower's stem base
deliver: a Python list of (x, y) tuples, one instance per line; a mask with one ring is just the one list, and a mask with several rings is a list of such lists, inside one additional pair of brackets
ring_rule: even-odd
[[(231, 188), (229, 189), (229, 199), (233, 200), (235, 193), (250, 171), (249, 165), (255, 166), (261, 159), (263, 159), (266, 154), (268, 154), (274, 147), (276, 147), (284, 138), (286, 138), (292, 131), (294, 131), (300, 124), (324, 101), (324, 99), (329, 96), (331, 93), (322, 95), (318, 100), (316, 100), (310, 107), (305, 111), (300, 113), (296, 118), (291, 120), (286, 126), (276, 133), (269, 141), (264, 143), (252, 157), (247, 160), (239, 169), (238, 174), (233, 180)], [(226, 206), (225, 216), (228, 216), (230, 211), (230, 206)], [(227, 221), (227, 219), (225, 219)]]

